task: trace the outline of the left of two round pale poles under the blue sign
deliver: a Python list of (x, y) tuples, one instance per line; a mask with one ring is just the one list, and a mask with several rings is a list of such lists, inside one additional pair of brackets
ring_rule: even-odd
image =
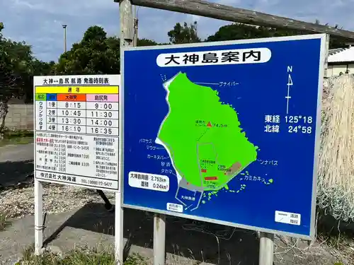
[(165, 264), (166, 216), (154, 214), (154, 265)]

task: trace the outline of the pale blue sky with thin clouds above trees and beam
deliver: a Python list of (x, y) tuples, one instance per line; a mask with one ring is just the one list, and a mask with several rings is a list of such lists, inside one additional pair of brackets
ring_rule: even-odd
[[(212, 0), (240, 8), (252, 9), (299, 20), (339, 24), (354, 30), (354, 0)], [(35, 56), (44, 61), (57, 61), (63, 51), (62, 24), (68, 25), (68, 48), (81, 40), (91, 25), (101, 25), (108, 35), (119, 34), (119, 8), (113, 0), (0, 0), (0, 21), (4, 35), (12, 40), (25, 40), (33, 46)], [(177, 22), (198, 20), (200, 37), (207, 37), (227, 22), (138, 8), (139, 37), (168, 42), (167, 32)]]

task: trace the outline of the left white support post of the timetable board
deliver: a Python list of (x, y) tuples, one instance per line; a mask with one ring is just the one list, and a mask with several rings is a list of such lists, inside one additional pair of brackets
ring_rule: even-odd
[(35, 255), (42, 254), (43, 246), (43, 186), (35, 179)]

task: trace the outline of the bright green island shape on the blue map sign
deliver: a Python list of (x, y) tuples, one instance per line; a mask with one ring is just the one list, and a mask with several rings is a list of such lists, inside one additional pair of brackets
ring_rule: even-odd
[(220, 101), (217, 90), (193, 83), (182, 72), (164, 88), (169, 112), (156, 143), (164, 146), (176, 170), (176, 199), (183, 194), (179, 189), (200, 192), (199, 205), (204, 192), (227, 188), (256, 161), (258, 147), (247, 139), (236, 110)]

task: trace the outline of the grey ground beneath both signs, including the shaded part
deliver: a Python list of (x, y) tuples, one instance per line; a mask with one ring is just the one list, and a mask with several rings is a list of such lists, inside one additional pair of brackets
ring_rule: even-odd
[[(23, 249), (33, 245), (33, 225), (34, 218), (28, 217), (16, 220), (6, 231), (0, 232), (0, 261), (12, 265), (21, 257)], [(112, 247), (114, 244), (114, 214), (105, 211), (103, 204), (87, 204), (77, 211), (53, 214), (47, 217), (45, 226), (44, 234), (47, 239), (45, 244), (59, 247), (62, 252), (67, 252), (75, 246)], [(153, 239), (151, 216), (147, 216), (143, 211), (125, 209), (124, 228), (127, 252), (139, 252), (151, 260)], [(200, 228), (201, 225), (193, 225), (192, 221), (185, 219), (167, 219), (166, 264), (258, 265), (259, 242), (253, 232), (235, 230), (232, 234), (232, 230), (226, 230), (223, 226), (207, 223), (203, 230), (209, 230), (209, 234), (201, 232)], [(232, 237), (217, 240), (212, 233)], [(289, 252), (283, 254), (282, 261), (278, 260), (275, 264), (334, 264), (335, 260), (324, 250), (314, 247), (314, 251), (315, 255), (299, 259), (293, 256), (293, 252)], [(188, 261), (187, 257), (193, 261)]]

